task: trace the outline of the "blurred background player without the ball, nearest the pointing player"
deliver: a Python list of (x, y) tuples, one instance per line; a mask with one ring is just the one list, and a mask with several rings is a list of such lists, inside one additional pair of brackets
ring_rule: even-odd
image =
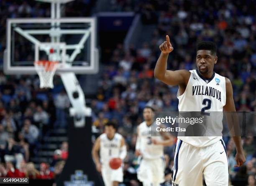
[(143, 186), (160, 186), (164, 182), (164, 146), (172, 146), (173, 138), (168, 133), (156, 132), (153, 108), (146, 106), (143, 118), (145, 121), (137, 128), (135, 154), (141, 159), (137, 177)]

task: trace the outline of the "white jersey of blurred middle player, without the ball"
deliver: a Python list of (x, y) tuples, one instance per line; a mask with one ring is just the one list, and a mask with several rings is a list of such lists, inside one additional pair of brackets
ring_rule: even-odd
[[(151, 132), (151, 128), (153, 129)], [(142, 158), (145, 159), (158, 159), (164, 156), (164, 146), (155, 145), (152, 139), (158, 141), (162, 140), (161, 134), (156, 131), (156, 123), (154, 122), (151, 126), (147, 126), (146, 121), (143, 121), (138, 126), (138, 135), (140, 140), (140, 151)]]

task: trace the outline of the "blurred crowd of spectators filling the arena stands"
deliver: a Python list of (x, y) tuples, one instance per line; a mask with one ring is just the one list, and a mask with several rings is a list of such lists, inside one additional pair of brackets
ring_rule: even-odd
[[(77, 0), (78, 1), (78, 0)], [(10, 3), (0, 0), (0, 63), (5, 48), (6, 18), (49, 17), (49, 7), (40, 3)], [(82, 2), (82, 1), (81, 1)], [(83, 1), (86, 2), (86, 1)], [(88, 1), (90, 2), (90, 1)], [(125, 51), (117, 44), (112, 58), (104, 62), (98, 91), (91, 101), (95, 135), (113, 120), (126, 140), (128, 156), (124, 162), (125, 185), (138, 185), (137, 159), (134, 156), (136, 126), (143, 121), (146, 105), (156, 111), (177, 111), (177, 87), (167, 86), (154, 78), (154, 66), (160, 54), (159, 44), (168, 34), (174, 51), (169, 55), (168, 69), (195, 69), (197, 41), (212, 40), (217, 48), (215, 72), (228, 77), (233, 84), (237, 111), (256, 111), (256, 16), (253, 0), (115, 0), (114, 11), (141, 13), (144, 24), (156, 29), (143, 47), (131, 46)], [(71, 6), (71, 5), (70, 5)], [(81, 6), (80, 6), (81, 7)], [(87, 13), (66, 8), (67, 15)], [(69, 12), (68, 12), (69, 11)], [(79, 15), (77, 15), (79, 12)], [(42, 162), (40, 170), (31, 161), (41, 139), (50, 128), (65, 128), (67, 94), (59, 77), (54, 89), (39, 89), (36, 76), (4, 75), (0, 72), (0, 176), (20, 175), (30, 178), (52, 178), (59, 175), (67, 158), (67, 144), (54, 153), (54, 164)], [(256, 123), (256, 121), (252, 121)], [(256, 175), (256, 139), (242, 138), (246, 163), (233, 167), (236, 148), (231, 138), (224, 138), (229, 157), (230, 186), (254, 186)], [(170, 185), (174, 146), (165, 149), (166, 182)]]

